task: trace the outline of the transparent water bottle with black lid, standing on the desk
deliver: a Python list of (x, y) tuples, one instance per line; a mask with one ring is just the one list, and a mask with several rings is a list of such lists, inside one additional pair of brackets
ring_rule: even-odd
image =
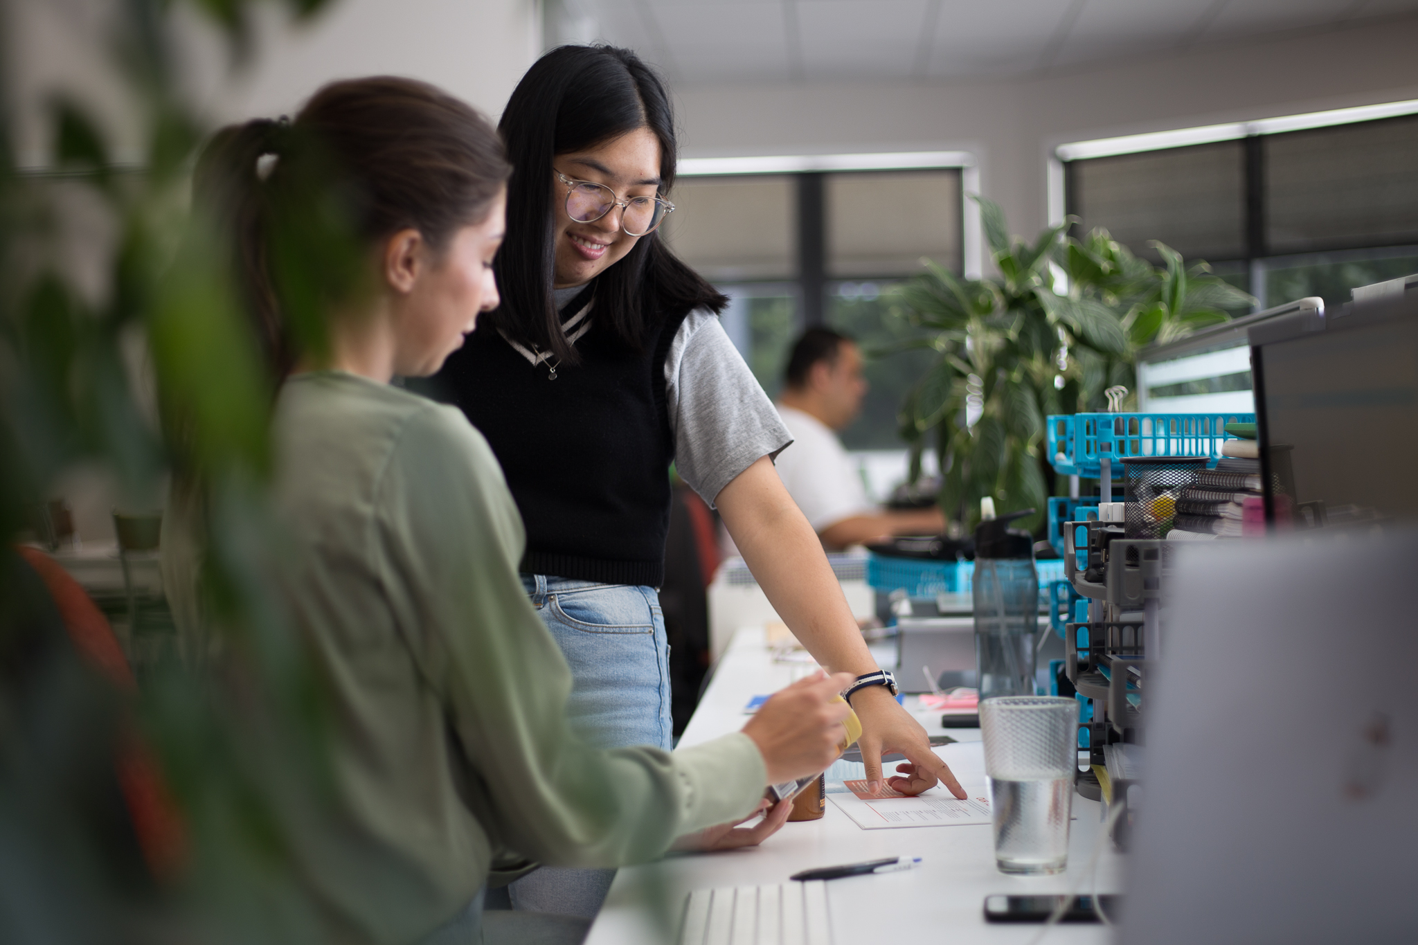
[(1039, 575), (1034, 537), (1010, 521), (1034, 509), (993, 517), (976, 528), (974, 621), (980, 698), (1034, 694), (1034, 646), (1039, 630)]

